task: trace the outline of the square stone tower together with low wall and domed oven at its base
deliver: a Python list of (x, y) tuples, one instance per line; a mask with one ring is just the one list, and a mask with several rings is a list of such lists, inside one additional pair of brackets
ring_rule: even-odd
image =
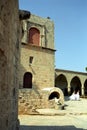
[(31, 14), (22, 21), (22, 33), (19, 113), (55, 107), (54, 97), (63, 103), (62, 91), (55, 88), (54, 22)]

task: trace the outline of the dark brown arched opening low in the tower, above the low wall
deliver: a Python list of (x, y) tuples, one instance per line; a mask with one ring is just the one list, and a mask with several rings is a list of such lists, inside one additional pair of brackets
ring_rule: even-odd
[(32, 74), (30, 72), (24, 74), (23, 88), (32, 88)]

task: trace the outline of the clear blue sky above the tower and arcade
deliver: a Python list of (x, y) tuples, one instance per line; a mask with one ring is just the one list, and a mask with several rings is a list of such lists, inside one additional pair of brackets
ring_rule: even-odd
[(54, 22), (55, 68), (86, 72), (87, 0), (19, 0), (19, 8)]

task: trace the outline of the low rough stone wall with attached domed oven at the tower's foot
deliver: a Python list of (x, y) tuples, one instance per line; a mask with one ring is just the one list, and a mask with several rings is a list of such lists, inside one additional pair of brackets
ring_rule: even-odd
[[(50, 96), (51, 99), (49, 98)], [(59, 99), (59, 104), (55, 102), (56, 97)], [(47, 88), (46, 90), (19, 89), (18, 104), (19, 104), (19, 115), (38, 114), (38, 109), (46, 109), (46, 108), (61, 109), (61, 106), (64, 104), (64, 95), (60, 89), (55, 87), (48, 88), (48, 90)]]

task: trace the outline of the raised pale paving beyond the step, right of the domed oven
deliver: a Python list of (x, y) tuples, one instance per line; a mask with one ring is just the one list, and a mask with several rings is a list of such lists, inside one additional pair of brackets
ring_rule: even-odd
[(65, 110), (57, 109), (37, 109), (39, 114), (46, 115), (65, 115), (65, 114), (87, 114), (87, 99), (80, 101), (65, 100)]

